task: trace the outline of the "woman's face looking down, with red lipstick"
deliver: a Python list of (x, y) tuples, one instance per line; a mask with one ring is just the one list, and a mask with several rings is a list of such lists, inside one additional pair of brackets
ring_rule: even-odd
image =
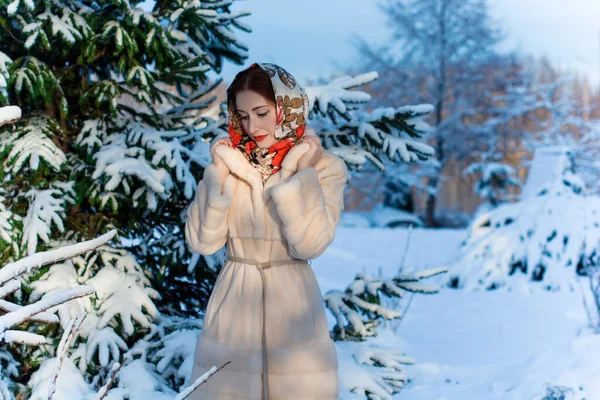
[(275, 105), (251, 90), (239, 91), (235, 97), (235, 105), (244, 130), (258, 147), (266, 149), (279, 141), (275, 139)]

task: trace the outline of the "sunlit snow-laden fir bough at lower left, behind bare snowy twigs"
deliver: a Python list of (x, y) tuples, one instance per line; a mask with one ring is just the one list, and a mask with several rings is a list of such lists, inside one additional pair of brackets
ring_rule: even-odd
[(71, 356), (85, 375), (90, 367), (106, 368), (120, 360), (129, 348), (127, 341), (151, 328), (158, 318), (154, 302), (159, 294), (131, 254), (101, 246), (95, 253), (54, 264), (31, 282), (30, 298), (82, 284), (95, 287), (96, 295), (64, 304), (57, 311), (63, 328), (71, 318), (88, 313), (81, 327), (82, 341)]

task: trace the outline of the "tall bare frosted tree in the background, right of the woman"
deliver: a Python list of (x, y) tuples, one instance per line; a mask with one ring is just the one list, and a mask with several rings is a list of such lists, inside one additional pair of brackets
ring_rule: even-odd
[(439, 163), (429, 174), (426, 211), (432, 224), (445, 164), (472, 149), (465, 116), (485, 109), (489, 92), (501, 84), (498, 71), (510, 60), (496, 50), (502, 34), (486, 0), (385, 0), (380, 8), (393, 36), (380, 48), (358, 39), (359, 64), (380, 72), (372, 88), (388, 104), (435, 105), (431, 124)]

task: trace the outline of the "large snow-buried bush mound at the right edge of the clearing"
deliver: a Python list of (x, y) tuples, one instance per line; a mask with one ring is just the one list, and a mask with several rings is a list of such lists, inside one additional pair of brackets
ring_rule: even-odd
[(600, 198), (585, 195), (572, 168), (568, 148), (539, 148), (523, 199), (472, 222), (449, 285), (573, 289), (600, 243)]

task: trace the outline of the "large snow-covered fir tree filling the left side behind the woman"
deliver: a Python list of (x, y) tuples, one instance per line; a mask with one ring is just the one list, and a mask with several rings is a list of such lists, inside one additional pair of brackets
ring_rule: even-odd
[[(49, 365), (61, 329), (81, 311), (88, 316), (63, 382), (85, 396), (63, 398), (94, 397), (122, 353), (160, 331), (158, 309), (202, 309), (216, 272), (190, 276), (197, 256), (185, 245), (182, 215), (210, 162), (208, 141), (225, 132), (224, 118), (198, 115), (209, 105), (198, 98), (218, 84), (208, 73), (247, 56), (236, 30), (249, 31), (240, 21), (249, 12), (231, 12), (232, 2), (158, 1), (151, 11), (120, 0), (0, 5), (0, 105), (23, 110), (15, 129), (0, 128), (2, 264), (119, 231), (112, 246), (24, 282), (17, 304), (81, 284), (97, 293), (53, 309), (60, 326), (45, 328), (47, 345), (20, 349), (19, 382)], [(111, 398), (128, 396), (134, 368), (154, 373), (144, 361), (131, 364)], [(165, 382), (150, 389), (175, 393)], [(47, 382), (29, 384), (33, 397), (45, 396)]]

